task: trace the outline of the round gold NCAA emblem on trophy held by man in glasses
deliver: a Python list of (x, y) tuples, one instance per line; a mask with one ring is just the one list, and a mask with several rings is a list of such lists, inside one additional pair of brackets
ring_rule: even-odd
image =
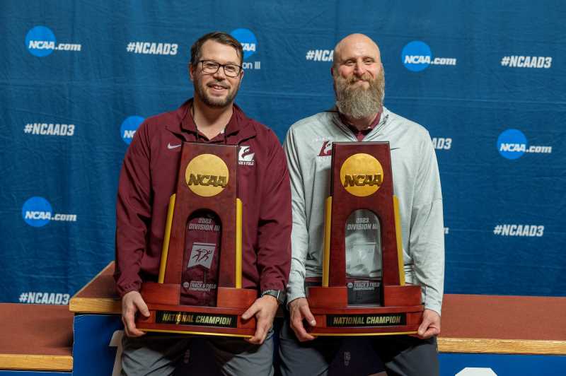
[(187, 165), (185, 180), (199, 196), (210, 197), (222, 192), (228, 184), (228, 166), (214, 154), (197, 155)]

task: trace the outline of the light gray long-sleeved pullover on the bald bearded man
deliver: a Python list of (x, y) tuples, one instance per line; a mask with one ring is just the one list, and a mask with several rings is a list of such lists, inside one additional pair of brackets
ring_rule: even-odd
[[(322, 275), (324, 211), (330, 192), (329, 151), (333, 141), (357, 141), (335, 110), (299, 120), (291, 126), (284, 142), (293, 208), (288, 302), (305, 296), (306, 277)], [(444, 223), (438, 164), (429, 133), (383, 107), (379, 124), (364, 141), (389, 141), (393, 190), (399, 199), (403, 229), (405, 280), (420, 284), (424, 306), (440, 314)], [(374, 276), (381, 268), (376, 259), (362, 271), (355, 260), (349, 259), (347, 264), (349, 276)]]

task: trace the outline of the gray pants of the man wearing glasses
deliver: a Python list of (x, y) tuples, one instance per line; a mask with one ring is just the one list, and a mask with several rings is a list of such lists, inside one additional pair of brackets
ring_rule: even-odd
[[(183, 358), (195, 337), (148, 333), (138, 338), (124, 336), (122, 339), (122, 375), (180, 375), (175, 369), (182, 368)], [(201, 337), (200, 343), (207, 346), (204, 356), (196, 361), (208, 366), (207, 375), (255, 375), (272, 376), (273, 330), (267, 334), (261, 346), (253, 345), (235, 337)], [(215, 369), (214, 364), (219, 368)], [(195, 373), (196, 375), (196, 373)]]

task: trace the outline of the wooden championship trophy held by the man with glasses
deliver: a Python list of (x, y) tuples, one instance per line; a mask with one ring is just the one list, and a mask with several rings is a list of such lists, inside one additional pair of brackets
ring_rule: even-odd
[(250, 337), (241, 315), (258, 297), (242, 287), (242, 205), (236, 197), (237, 146), (183, 143), (171, 196), (158, 282), (141, 296), (144, 331)]

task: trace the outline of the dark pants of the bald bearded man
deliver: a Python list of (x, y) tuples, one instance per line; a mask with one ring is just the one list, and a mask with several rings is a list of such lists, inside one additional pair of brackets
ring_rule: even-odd
[[(340, 337), (318, 337), (299, 342), (286, 319), (279, 335), (280, 370), (282, 376), (325, 376), (337, 355)], [(375, 336), (371, 348), (381, 358), (388, 376), (439, 375), (437, 339), (412, 336)]]

